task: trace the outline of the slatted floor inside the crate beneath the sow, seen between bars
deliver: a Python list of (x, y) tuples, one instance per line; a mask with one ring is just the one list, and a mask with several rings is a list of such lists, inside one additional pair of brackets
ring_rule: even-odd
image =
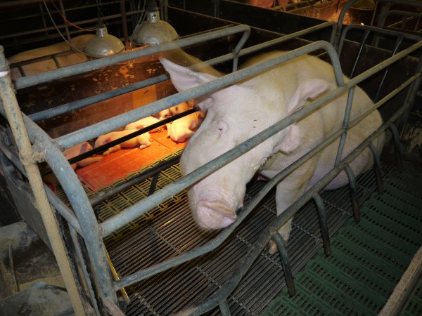
[[(383, 176), (390, 172), (383, 169)], [(162, 171), (158, 188), (180, 177), (179, 166)], [(151, 180), (145, 180), (98, 206), (98, 219), (105, 220), (124, 207), (143, 199)], [(248, 185), (245, 204), (264, 183)], [(358, 180), (359, 201), (363, 202), (376, 190), (373, 171)], [(88, 192), (90, 195), (91, 193)], [(184, 307), (200, 303), (210, 296), (238, 269), (238, 262), (259, 233), (275, 218), (275, 190), (258, 204), (234, 234), (212, 254), (184, 263), (126, 288), (131, 302), (126, 315), (172, 315)], [(324, 192), (330, 235), (351, 216), (348, 187)], [(321, 234), (314, 202), (306, 204), (293, 220), (288, 253), (293, 273), (302, 270), (321, 248)], [(148, 268), (190, 251), (213, 239), (216, 233), (202, 232), (188, 210), (185, 192), (160, 204), (146, 216), (135, 220), (105, 239), (111, 261), (122, 277)], [(283, 268), (278, 254), (263, 251), (227, 302), (231, 315), (260, 315), (285, 287)], [(219, 315), (216, 308), (208, 314)]]

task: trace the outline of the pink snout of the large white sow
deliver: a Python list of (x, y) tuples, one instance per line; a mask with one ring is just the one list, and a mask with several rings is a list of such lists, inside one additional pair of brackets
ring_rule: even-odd
[(196, 206), (196, 221), (206, 230), (225, 228), (234, 223), (236, 218), (235, 211), (222, 202), (200, 201)]

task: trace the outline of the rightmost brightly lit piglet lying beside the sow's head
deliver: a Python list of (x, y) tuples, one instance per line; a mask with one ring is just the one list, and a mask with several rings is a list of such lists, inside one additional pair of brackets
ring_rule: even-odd
[(172, 138), (177, 143), (183, 143), (195, 133), (193, 130), (198, 129), (203, 118), (203, 112), (198, 111), (176, 119), (171, 124), (166, 124), (167, 137)]

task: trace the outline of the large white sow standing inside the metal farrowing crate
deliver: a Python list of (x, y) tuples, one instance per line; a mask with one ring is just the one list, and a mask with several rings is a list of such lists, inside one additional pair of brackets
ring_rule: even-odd
[[(246, 65), (262, 62), (284, 52), (262, 54)], [(186, 67), (162, 59), (178, 91), (185, 91), (215, 79), (212, 74), (193, 72)], [(348, 79), (344, 77), (347, 81)], [(336, 88), (333, 67), (318, 58), (304, 55), (267, 72), (262, 72), (239, 84), (221, 89), (203, 98), (198, 106), (207, 111), (203, 124), (189, 140), (181, 156), (183, 175), (210, 162), (248, 138), (299, 110), (309, 99)], [(288, 126), (233, 162), (229, 162), (188, 190), (189, 204), (198, 225), (204, 229), (221, 229), (236, 220), (236, 211), (243, 206), (245, 187), (255, 172), (272, 178), (292, 164), (312, 147), (341, 129), (347, 93), (326, 104), (320, 110)], [(354, 91), (351, 118), (357, 117), (373, 103), (360, 88)], [(381, 115), (373, 111), (347, 133), (343, 157), (381, 126)], [(374, 141), (378, 152), (384, 136)], [(290, 173), (277, 185), (276, 209), (280, 215), (309, 187), (312, 187), (333, 167), (338, 140)], [(369, 149), (354, 159), (355, 175), (373, 164)], [(348, 183), (345, 172), (327, 187), (332, 190)], [(285, 241), (290, 235), (291, 220), (281, 229)], [(276, 251), (274, 243), (270, 253)]]

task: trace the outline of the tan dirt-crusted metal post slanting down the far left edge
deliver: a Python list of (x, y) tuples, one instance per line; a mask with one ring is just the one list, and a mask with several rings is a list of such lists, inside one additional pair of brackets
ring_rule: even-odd
[(22, 113), (20, 112), (18, 100), (16, 99), (12, 86), (3, 46), (0, 46), (0, 98), (4, 106), (4, 111), (6, 112), (6, 118), (11, 126), (13, 138), (15, 138), (15, 143), (18, 147), (20, 159), (23, 166), (25, 166), (27, 178), (34, 193), (35, 206), (37, 206), (41, 214), (51, 242), (53, 254), (56, 257), (60, 273), (68, 290), (73, 310), (75, 311), (75, 315), (85, 315), (82, 298), (79, 296), (77, 284), (72, 275), (72, 268), (70, 267), (63, 239), (58, 230), (56, 217), (47, 199), (44, 183), (42, 182), (34, 152), (32, 152), (30, 139), (23, 123)]

